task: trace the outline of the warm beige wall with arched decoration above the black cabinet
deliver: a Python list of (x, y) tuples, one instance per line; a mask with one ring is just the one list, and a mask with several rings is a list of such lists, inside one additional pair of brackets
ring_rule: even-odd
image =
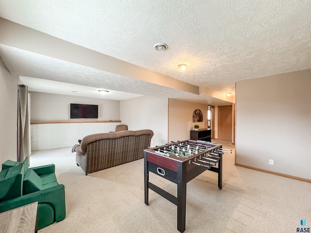
[[(194, 110), (200, 109), (203, 122), (192, 122)], [(207, 105), (183, 100), (169, 99), (169, 141), (181, 141), (190, 138), (194, 125), (207, 128)]]

